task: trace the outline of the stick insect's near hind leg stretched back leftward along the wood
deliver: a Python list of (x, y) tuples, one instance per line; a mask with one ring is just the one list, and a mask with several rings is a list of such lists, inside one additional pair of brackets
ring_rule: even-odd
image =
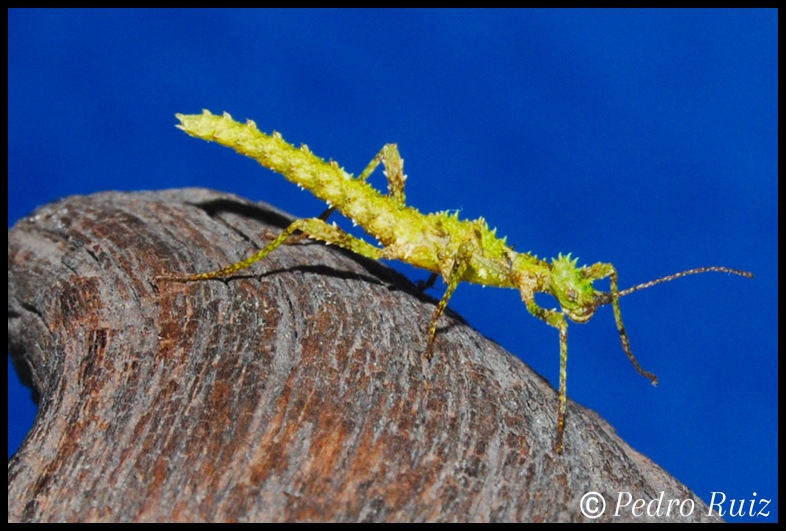
[(328, 225), (319, 218), (305, 218), (292, 222), (278, 237), (267, 244), (262, 250), (245, 260), (224, 267), (209, 273), (198, 273), (196, 275), (159, 275), (156, 280), (168, 280), (175, 282), (190, 282), (195, 280), (209, 280), (213, 278), (224, 278), (238, 271), (242, 271), (254, 263), (262, 260), (272, 253), (279, 245), (283, 244), (295, 231), (303, 231), (309, 238), (321, 240), (326, 243), (338, 245), (350, 251), (378, 260), (382, 257), (382, 250), (373, 245), (347, 234), (335, 225)]

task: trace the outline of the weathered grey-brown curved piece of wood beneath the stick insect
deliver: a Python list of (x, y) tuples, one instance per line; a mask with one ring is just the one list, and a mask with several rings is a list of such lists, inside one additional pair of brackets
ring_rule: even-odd
[[(712, 520), (684, 485), (376, 262), (304, 241), (226, 281), (289, 218), (208, 190), (101, 193), (8, 234), (8, 342), (39, 399), (10, 521)], [(525, 354), (526, 353), (522, 353)], [(612, 517), (619, 491), (691, 516)], [(666, 507), (662, 508), (665, 511)], [(676, 514), (675, 514), (676, 513)]]

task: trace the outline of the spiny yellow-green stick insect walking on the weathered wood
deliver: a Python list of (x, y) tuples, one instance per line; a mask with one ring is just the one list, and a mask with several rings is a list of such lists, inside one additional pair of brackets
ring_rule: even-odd
[[(657, 385), (657, 377), (644, 370), (630, 348), (628, 333), (622, 323), (619, 299), (635, 291), (677, 278), (710, 271), (731, 273), (747, 278), (753, 275), (728, 267), (713, 266), (690, 269), (665, 276), (625, 290), (617, 286), (617, 271), (612, 264), (577, 265), (577, 259), (562, 254), (551, 261), (530, 253), (518, 253), (505, 238), (489, 229), (483, 218), (459, 219), (456, 212), (424, 214), (407, 206), (404, 196), (404, 161), (395, 144), (387, 144), (357, 177), (345, 172), (334, 161), (326, 162), (302, 145), (287, 143), (280, 134), (267, 135), (248, 120), (236, 122), (205, 110), (202, 114), (177, 114), (177, 127), (191, 136), (218, 142), (249, 156), (262, 166), (281, 173), (300, 188), (309, 190), (327, 202), (328, 210), (317, 218), (298, 219), (256, 254), (236, 264), (209, 273), (161, 275), (163, 281), (197, 281), (228, 277), (261, 260), (286, 242), (297, 231), (314, 240), (343, 247), (359, 255), (379, 259), (396, 259), (432, 273), (427, 285), (441, 276), (447, 289), (431, 316), (424, 355), (431, 359), (437, 323), (451, 295), (460, 282), (517, 289), (529, 313), (559, 331), (560, 383), (557, 409), (557, 434), (554, 449), (562, 453), (567, 408), (568, 321), (586, 323), (600, 307), (611, 304), (619, 331), (622, 350), (639, 374)], [(366, 180), (382, 163), (388, 181), (388, 193), (382, 194)], [(360, 225), (379, 241), (381, 247), (356, 238), (326, 219), (334, 211)], [(608, 292), (595, 289), (593, 282), (609, 279)], [(560, 310), (546, 309), (535, 302), (536, 293), (548, 293), (557, 299)]]

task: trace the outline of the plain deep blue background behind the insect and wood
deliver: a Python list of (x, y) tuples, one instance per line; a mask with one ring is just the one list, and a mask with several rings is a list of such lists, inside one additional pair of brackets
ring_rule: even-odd
[[(354, 173), (397, 142), (410, 204), (485, 216), (519, 251), (611, 262), (621, 287), (705, 265), (755, 272), (622, 301), (657, 388), (631, 367), (609, 308), (571, 326), (569, 396), (705, 501), (771, 499), (777, 519), (776, 11), (8, 17), (9, 226), (110, 189), (204, 186), (321, 212), (174, 128), (175, 112), (208, 108)], [(385, 187), (381, 174), (372, 182)], [(450, 305), (557, 382), (557, 332), (515, 291), (462, 285)], [(32, 424), (29, 397), (9, 364), (9, 456)]]

